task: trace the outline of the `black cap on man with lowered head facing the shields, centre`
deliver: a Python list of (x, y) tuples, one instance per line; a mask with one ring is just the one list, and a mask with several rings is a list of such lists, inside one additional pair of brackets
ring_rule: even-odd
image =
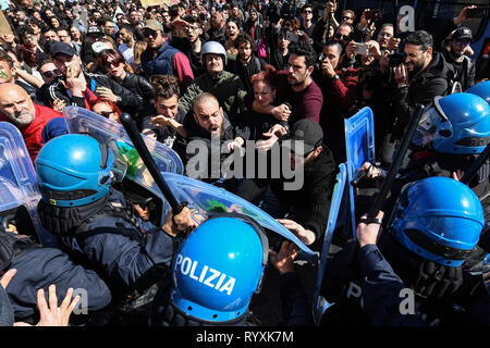
[[(305, 156), (306, 153), (320, 146), (323, 141), (323, 130), (318, 123), (309, 119), (296, 121), (290, 130), (291, 150), (295, 153)], [(296, 148), (294, 140), (303, 141), (303, 150)]]

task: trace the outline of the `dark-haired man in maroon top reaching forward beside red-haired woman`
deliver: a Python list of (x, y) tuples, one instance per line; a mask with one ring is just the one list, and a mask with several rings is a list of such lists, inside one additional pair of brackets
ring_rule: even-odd
[[(290, 125), (302, 119), (310, 119), (319, 123), (323, 96), (311, 78), (317, 60), (316, 52), (306, 41), (292, 44), (289, 49), (287, 70), (277, 73), (277, 96), (279, 99), (287, 101), (292, 110), (285, 104), (264, 107), (256, 100), (249, 104), (254, 111), (271, 114), (280, 121), (289, 122)], [(249, 95), (254, 97), (253, 94)]]

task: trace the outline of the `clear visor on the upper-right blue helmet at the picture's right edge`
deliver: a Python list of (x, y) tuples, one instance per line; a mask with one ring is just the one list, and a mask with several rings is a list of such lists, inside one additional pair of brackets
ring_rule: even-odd
[(452, 133), (451, 123), (431, 107), (422, 114), (412, 142), (418, 147), (427, 147), (434, 140), (448, 138)]

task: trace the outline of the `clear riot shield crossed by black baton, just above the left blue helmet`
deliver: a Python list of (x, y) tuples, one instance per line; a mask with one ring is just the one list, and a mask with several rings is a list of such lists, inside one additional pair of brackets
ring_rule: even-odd
[[(132, 176), (132, 179), (138, 181), (138, 178), (149, 176), (149, 174), (145, 174), (147, 171), (121, 124), (78, 107), (66, 107), (63, 116), (69, 133), (89, 134), (107, 144), (115, 142), (119, 151), (128, 160), (127, 174)], [(142, 137), (161, 172), (184, 173), (184, 165), (175, 151), (147, 136), (142, 135)]]

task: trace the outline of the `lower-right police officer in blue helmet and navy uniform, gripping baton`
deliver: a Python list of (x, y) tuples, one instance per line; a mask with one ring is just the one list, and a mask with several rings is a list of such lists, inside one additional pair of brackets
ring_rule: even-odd
[(483, 225), (478, 197), (464, 184), (429, 177), (406, 185), (385, 231), (379, 223), (358, 225), (360, 250), (351, 268), (353, 244), (327, 265), (323, 295), (335, 304), (323, 324), (481, 324), (475, 307), (488, 316), (489, 295), (481, 275), (464, 264)]

